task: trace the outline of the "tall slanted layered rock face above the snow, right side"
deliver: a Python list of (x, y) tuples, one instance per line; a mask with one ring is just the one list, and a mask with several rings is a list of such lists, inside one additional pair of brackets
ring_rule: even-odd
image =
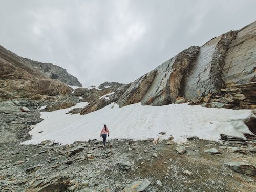
[[(209, 102), (216, 96), (213, 101), (223, 102), (223, 106), (236, 104), (241, 108), (254, 109), (255, 32), (256, 22), (215, 37), (201, 47), (192, 46), (182, 51), (134, 81), (117, 104), (165, 105), (175, 103), (178, 97)], [(220, 100), (222, 89), (226, 87), (239, 87), (237, 93), (243, 94), (243, 99), (237, 102), (234, 97), (237, 93), (234, 92), (231, 105)]]

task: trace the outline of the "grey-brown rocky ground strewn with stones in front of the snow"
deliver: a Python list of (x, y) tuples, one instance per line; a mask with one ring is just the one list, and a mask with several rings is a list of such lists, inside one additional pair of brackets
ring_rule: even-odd
[[(25, 104), (31, 112), (19, 111)], [(256, 191), (254, 140), (19, 144), (42, 104), (0, 104), (0, 191)]]

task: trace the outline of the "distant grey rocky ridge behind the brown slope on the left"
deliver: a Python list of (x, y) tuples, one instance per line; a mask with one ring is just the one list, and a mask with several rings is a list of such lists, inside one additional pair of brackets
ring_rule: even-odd
[(38, 61), (33, 61), (27, 58), (23, 60), (29, 62), (32, 66), (38, 69), (42, 74), (45, 74), (51, 79), (58, 79), (62, 82), (69, 84), (70, 86), (82, 86), (82, 84), (77, 80), (76, 77), (69, 74), (66, 69), (62, 67), (53, 65), (52, 63), (42, 63)]

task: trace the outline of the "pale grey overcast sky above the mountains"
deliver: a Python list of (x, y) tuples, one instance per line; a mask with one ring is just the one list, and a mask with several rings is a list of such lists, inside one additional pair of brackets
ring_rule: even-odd
[(86, 86), (129, 83), (256, 19), (256, 1), (0, 0), (0, 45)]

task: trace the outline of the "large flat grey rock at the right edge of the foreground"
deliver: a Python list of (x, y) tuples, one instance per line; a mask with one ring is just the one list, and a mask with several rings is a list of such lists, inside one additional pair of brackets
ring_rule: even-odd
[(254, 165), (239, 161), (228, 162), (225, 164), (232, 168), (235, 172), (243, 173), (246, 175), (256, 175), (256, 167)]

